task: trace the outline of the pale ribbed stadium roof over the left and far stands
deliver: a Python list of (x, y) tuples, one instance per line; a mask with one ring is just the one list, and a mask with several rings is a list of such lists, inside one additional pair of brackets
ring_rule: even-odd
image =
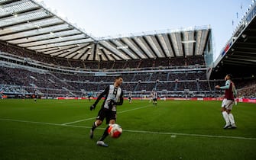
[(95, 38), (34, 0), (0, 0), (0, 40), (66, 59), (117, 61), (201, 56), (211, 29)]

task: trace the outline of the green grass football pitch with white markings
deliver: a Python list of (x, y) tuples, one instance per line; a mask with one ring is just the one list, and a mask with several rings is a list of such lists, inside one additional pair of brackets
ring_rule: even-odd
[(1, 159), (256, 159), (256, 104), (234, 106), (235, 130), (223, 130), (221, 101), (125, 101), (118, 139), (89, 139), (96, 110), (88, 100), (0, 101)]

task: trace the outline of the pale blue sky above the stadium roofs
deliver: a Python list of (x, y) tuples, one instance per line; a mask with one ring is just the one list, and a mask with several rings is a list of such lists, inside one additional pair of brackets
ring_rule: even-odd
[(195, 26), (212, 28), (214, 59), (251, 0), (37, 0), (93, 37)]

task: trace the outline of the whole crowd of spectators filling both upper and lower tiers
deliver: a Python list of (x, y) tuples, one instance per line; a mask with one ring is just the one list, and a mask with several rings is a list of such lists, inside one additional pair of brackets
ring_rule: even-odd
[[(175, 57), (167, 59), (138, 59), (128, 61), (91, 62), (74, 59), (60, 59), (57, 57), (33, 53), (28, 50), (0, 43), (0, 52), (11, 53), (32, 61), (46, 62), (53, 67), (66, 66), (70, 69), (144, 69), (144, 72), (123, 73), (124, 91), (194, 91), (203, 93), (215, 91), (214, 86), (224, 80), (206, 81), (206, 71), (196, 70), (197, 66), (205, 65), (203, 56)], [(24, 64), (25, 66), (25, 64)], [(182, 69), (179, 69), (181, 66)], [(153, 68), (177, 67), (176, 71), (152, 72)], [(191, 70), (194, 68), (194, 70)], [(146, 70), (148, 72), (146, 72)], [(154, 70), (153, 70), (154, 71)], [(87, 91), (102, 91), (107, 85), (112, 84), (114, 75), (94, 75), (94, 73), (51, 72), (41, 69), (21, 69), (18, 67), (0, 67), (0, 84), (5, 91), (33, 93), (37, 88), (42, 94), (49, 96), (83, 95)], [(235, 82), (236, 83), (236, 82)], [(255, 97), (255, 81), (238, 81), (240, 97)], [(8, 85), (8, 87), (5, 87)], [(12, 86), (12, 87), (11, 87)], [(16, 86), (16, 87), (15, 87)], [(24, 87), (22, 87), (24, 86)], [(3, 89), (2, 89), (3, 90)], [(215, 93), (222, 94), (219, 91)]]

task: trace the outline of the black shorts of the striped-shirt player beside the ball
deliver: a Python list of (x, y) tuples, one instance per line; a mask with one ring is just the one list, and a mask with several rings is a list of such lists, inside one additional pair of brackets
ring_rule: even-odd
[(105, 123), (106, 124), (109, 124), (109, 121), (110, 120), (116, 120), (116, 111), (112, 111), (112, 110), (109, 110), (105, 107), (102, 107), (100, 110), (99, 110), (99, 113), (98, 113), (98, 116), (96, 117), (96, 120), (104, 120), (105, 118)]

